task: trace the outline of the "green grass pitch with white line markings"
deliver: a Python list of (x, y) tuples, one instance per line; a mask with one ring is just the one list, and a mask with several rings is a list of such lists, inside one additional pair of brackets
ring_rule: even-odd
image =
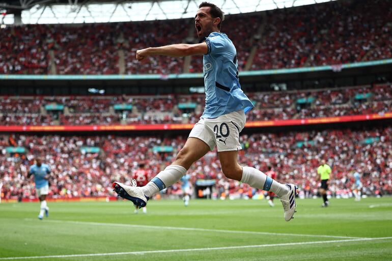
[(297, 200), (290, 222), (265, 200), (48, 205), (0, 204), (0, 260), (392, 260), (392, 197)]

